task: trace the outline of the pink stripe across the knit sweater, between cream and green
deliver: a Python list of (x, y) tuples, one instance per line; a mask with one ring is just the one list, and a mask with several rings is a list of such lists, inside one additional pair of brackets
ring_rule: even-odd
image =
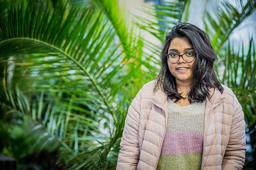
[(182, 154), (203, 151), (203, 134), (196, 132), (166, 132), (161, 154)]

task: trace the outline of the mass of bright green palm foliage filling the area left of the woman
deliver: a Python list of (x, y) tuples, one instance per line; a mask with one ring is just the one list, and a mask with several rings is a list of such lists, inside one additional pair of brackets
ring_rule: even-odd
[(150, 57), (117, 2), (22, 3), (0, 18), (1, 117), (31, 118), (45, 131), (31, 147), (58, 142), (64, 169), (115, 168), (128, 103), (156, 71), (142, 72)]

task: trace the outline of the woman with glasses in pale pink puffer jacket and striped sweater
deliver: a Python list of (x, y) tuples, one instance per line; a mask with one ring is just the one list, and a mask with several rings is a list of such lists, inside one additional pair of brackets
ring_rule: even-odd
[(128, 109), (117, 169), (242, 169), (244, 113), (214, 73), (218, 59), (208, 35), (193, 24), (178, 24), (160, 57), (160, 74)]

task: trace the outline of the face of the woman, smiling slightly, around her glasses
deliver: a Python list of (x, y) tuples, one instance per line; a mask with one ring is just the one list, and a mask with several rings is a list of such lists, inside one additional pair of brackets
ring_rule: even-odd
[[(195, 52), (194, 48), (190, 44), (187, 38), (174, 38), (171, 40), (168, 54), (176, 53), (182, 55), (186, 52)], [(183, 55), (185, 57), (185, 55)], [(166, 59), (167, 60), (167, 59)], [(168, 60), (168, 67), (171, 74), (176, 78), (176, 83), (191, 83), (192, 82), (192, 66), (194, 64), (194, 59), (192, 62), (186, 62), (180, 57), (177, 63), (170, 63)], [(187, 67), (187, 69), (178, 70), (178, 67)]]

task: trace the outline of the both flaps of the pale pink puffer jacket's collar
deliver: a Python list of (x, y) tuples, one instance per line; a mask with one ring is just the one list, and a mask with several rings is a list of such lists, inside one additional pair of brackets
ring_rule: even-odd
[[(223, 94), (220, 93), (220, 91), (215, 87), (215, 88), (210, 88), (208, 89), (210, 96), (210, 99), (208, 98), (207, 100), (207, 105), (209, 105), (208, 101), (210, 102), (211, 105), (214, 105), (215, 103), (218, 103), (221, 101), (223, 98)], [(154, 96), (151, 97), (151, 100), (159, 104), (160, 106), (163, 106), (163, 104), (167, 101), (167, 94), (162, 91), (161, 88), (158, 88), (158, 90), (155, 92)]]

